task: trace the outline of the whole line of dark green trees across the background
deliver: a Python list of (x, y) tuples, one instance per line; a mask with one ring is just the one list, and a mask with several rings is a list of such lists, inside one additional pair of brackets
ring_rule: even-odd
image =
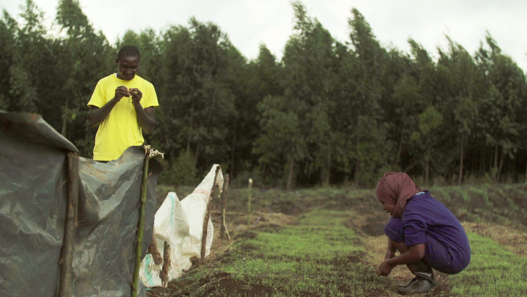
[[(244, 57), (213, 23), (191, 18), (161, 32), (95, 32), (77, 0), (58, 1), (49, 34), (26, 0), (22, 23), (0, 19), (0, 109), (35, 112), (91, 157), (86, 114), (118, 49), (141, 51), (139, 75), (160, 106), (147, 143), (165, 153), (164, 182), (193, 183), (219, 163), (265, 186), (355, 183), (386, 171), (418, 184), (520, 181), (527, 171), (527, 81), (490, 34), (474, 53), (448, 38), (433, 58), (383, 47), (357, 9), (349, 39), (334, 39), (301, 2), (278, 61), (260, 45)], [(523, 115), (523, 116), (522, 116)]]

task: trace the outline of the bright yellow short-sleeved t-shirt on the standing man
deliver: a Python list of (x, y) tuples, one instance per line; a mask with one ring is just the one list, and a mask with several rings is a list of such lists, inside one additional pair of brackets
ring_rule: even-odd
[[(115, 89), (119, 86), (138, 88), (143, 93), (140, 101), (143, 108), (159, 106), (158, 96), (150, 82), (137, 75), (131, 81), (123, 81), (117, 78), (115, 74), (106, 76), (97, 83), (87, 105), (104, 106), (112, 100), (115, 96)], [(95, 135), (93, 160), (111, 161), (118, 159), (129, 146), (142, 145), (143, 142), (143, 133), (135, 114), (132, 99), (131, 97), (123, 97), (99, 125), (99, 130)]]

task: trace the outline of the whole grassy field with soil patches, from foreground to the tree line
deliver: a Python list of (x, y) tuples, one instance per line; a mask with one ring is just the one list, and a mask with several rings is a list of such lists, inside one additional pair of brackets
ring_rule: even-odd
[[(186, 189), (179, 190), (183, 196)], [(430, 190), (460, 217), (472, 261), (457, 275), (437, 273), (440, 286), (422, 295), (527, 295), (526, 185)], [(247, 190), (232, 191), (229, 211), (243, 212), (246, 197)], [(247, 230), (247, 216), (233, 215), (232, 240), (215, 239), (206, 261), (148, 295), (397, 296), (396, 284), (412, 277), (403, 267), (388, 278), (375, 275), (388, 215), (373, 190), (253, 189), (253, 197), (257, 224)]]

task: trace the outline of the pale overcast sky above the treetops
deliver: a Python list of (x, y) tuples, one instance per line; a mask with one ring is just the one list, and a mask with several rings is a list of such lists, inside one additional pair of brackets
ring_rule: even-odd
[[(278, 58), (291, 35), (293, 9), (288, 0), (79, 0), (84, 14), (111, 44), (126, 29), (162, 31), (169, 25), (188, 25), (191, 16), (213, 22), (238, 50), (256, 58), (264, 43)], [(58, 0), (33, 0), (49, 22)], [(0, 0), (11, 16), (25, 0)], [(421, 43), (433, 56), (446, 47), (445, 34), (472, 55), (489, 31), (501, 47), (527, 70), (527, 1), (525, 0), (303, 0), (308, 14), (340, 42), (349, 41), (348, 18), (356, 7), (385, 46), (408, 52), (408, 38)]]

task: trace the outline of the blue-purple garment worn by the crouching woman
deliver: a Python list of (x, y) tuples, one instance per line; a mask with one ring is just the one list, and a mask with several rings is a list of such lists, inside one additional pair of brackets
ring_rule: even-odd
[(384, 233), (406, 246), (424, 243), (422, 260), (438, 271), (455, 274), (469, 265), (470, 244), (465, 230), (454, 214), (428, 191), (412, 196), (401, 219), (392, 217)]

